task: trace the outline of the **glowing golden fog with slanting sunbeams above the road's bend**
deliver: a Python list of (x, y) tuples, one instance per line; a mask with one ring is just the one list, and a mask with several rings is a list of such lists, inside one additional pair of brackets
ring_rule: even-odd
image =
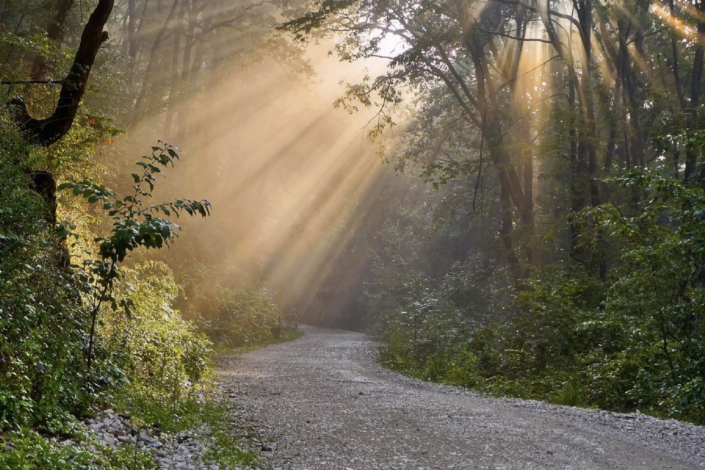
[[(331, 46), (307, 47), (308, 79), (274, 59), (223, 73), (180, 104), (189, 109), (186, 135), (160, 137), (183, 151), (166, 175), (169, 194), (213, 205), (207, 219), (180, 221), (183, 233), (168, 256), (196, 253), (212, 266), (205, 283), (247, 276), (276, 292), (285, 314), (295, 309), (317, 321), (323, 306), (334, 311), (357, 301), (319, 289), (372, 204), (379, 174), (389, 172), (381, 144), (367, 136), (376, 109), (333, 106), (346, 82), (384, 73), (386, 61), (341, 62)], [(117, 151), (149, 148), (163, 125), (164, 116), (140, 123)], [(384, 142), (386, 151), (393, 142)]]

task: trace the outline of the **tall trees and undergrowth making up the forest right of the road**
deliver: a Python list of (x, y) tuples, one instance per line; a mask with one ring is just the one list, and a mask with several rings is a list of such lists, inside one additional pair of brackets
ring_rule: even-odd
[(701, 422), (703, 8), (331, 0), (286, 23), (390, 61), (336, 101), (374, 113), (389, 166), (307, 314), (374, 325), (427, 380)]

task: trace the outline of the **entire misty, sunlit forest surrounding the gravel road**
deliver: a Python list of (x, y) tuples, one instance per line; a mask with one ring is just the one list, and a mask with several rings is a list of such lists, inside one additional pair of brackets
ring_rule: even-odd
[(704, 421), (704, 11), (4, 1), (0, 427), (167, 421), (297, 318)]

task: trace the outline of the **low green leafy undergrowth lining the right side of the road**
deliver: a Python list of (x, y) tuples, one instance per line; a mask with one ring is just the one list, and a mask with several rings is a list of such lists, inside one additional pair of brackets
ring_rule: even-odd
[(575, 215), (580, 249), (618, 256), (603, 279), (575, 260), (540, 268), (507, 299), (503, 322), (473, 319), (447, 287), (399, 295), (381, 360), (491, 395), (705, 422), (704, 192), (658, 168), (609, 183), (649, 197), (636, 214), (603, 204)]

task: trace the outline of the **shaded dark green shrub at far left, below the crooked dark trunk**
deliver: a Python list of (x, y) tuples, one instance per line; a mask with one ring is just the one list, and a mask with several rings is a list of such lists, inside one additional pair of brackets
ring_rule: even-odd
[[(0, 122), (0, 125), (6, 123)], [(16, 137), (16, 136), (15, 136)], [(16, 164), (27, 148), (0, 133), (0, 428), (45, 426), (87, 404), (87, 314), (47, 204)]]

